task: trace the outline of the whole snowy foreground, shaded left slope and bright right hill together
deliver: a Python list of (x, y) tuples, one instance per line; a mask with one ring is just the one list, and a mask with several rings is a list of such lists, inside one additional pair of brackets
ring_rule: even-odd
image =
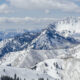
[(13, 77), (15, 73), (20, 78), (25, 78), (26, 80), (38, 80), (39, 78), (44, 78), (45, 80), (80, 80), (80, 59), (73, 57), (47, 59), (38, 63), (32, 70), (27, 68), (0, 67), (0, 75)]

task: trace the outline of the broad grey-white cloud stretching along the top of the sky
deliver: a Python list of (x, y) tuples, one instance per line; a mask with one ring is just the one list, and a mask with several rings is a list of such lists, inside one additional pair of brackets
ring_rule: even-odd
[(41, 9), (41, 10), (61, 10), (80, 12), (80, 6), (70, 0), (8, 0), (10, 4), (17, 8)]

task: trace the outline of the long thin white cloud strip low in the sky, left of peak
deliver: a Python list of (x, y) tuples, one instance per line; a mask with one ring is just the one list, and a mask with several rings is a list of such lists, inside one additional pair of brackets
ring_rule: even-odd
[(24, 17), (24, 18), (19, 18), (19, 17), (0, 17), (0, 23), (2, 22), (12, 22), (12, 23), (23, 23), (23, 22), (43, 22), (43, 21), (53, 21), (55, 20), (54, 18), (32, 18), (32, 17)]

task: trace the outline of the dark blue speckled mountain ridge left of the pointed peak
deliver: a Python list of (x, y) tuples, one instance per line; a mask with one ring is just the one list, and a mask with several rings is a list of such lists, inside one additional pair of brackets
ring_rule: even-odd
[(26, 32), (15, 36), (11, 39), (6, 39), (0, 42), (0, 57), (4, 56), (5, 53), (21, 51), (27, 48), (28, 44), (36, 38), (39, 33)]

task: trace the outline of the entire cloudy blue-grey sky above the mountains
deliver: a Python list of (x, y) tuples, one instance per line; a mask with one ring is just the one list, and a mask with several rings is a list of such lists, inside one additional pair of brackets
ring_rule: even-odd
[(0, 30), (41, 29), (70, 16), (80, 16), (80, 0), (0, 0)]

